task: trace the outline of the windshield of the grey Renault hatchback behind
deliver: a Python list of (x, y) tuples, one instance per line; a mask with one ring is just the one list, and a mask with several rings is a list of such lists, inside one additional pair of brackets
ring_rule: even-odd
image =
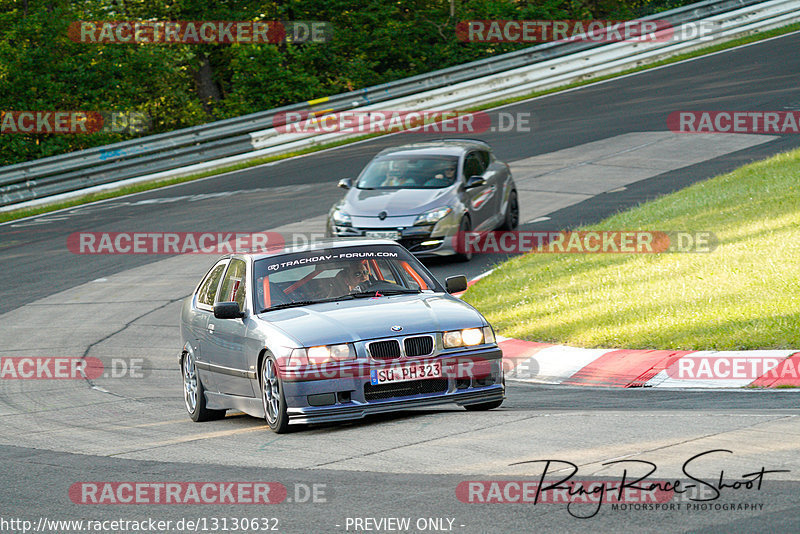
[(359, 189), (440, 189), (453, 185), (458, 157), (389, 157), (373, 160), (364, 169)]

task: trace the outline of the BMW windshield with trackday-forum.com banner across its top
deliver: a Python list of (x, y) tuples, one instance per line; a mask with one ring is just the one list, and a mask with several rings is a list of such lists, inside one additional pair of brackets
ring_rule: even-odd
[(254, 264), (260, 311), (318, 302), (442, 291), (398, 246), (348, 247), (285, 254)]

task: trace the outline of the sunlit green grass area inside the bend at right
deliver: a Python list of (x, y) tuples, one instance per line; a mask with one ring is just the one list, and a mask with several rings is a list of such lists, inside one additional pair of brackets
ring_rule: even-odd
[(800, 348), (800, 150), (583, 230), (711, 231), (711, 253), (526, 254), (466, 293), (503, 336), (581, 347)]

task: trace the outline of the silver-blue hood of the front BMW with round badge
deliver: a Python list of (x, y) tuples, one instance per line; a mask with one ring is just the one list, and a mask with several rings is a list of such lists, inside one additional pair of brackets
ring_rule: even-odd
[[(487, 324), (469, 304), (441, 294), (326, 302), (265, 312), (258, 317), (269, 321), (305, 347)], [(394, 325), (403, 327), (403, 330), (392, 332)]]

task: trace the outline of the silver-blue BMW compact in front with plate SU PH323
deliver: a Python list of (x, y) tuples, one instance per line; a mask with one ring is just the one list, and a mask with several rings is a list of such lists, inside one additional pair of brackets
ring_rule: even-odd
[(186, 409), (293, 423), (503, 402), (492, 327), (390, 240), (323, 240), (219, 259), (181, 311)]

